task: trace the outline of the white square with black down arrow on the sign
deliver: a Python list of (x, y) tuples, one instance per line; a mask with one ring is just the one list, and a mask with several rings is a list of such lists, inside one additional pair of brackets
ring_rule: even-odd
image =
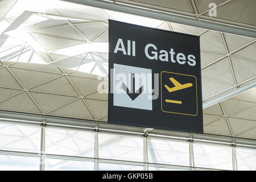
[(151, 69), (114, 64), (114, 106), (152, 110)]

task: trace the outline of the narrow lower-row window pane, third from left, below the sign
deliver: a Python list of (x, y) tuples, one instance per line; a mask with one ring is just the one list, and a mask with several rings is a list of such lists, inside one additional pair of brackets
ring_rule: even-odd
[(113, 164), (113, 163), (99, 163), (99, 171), (143, 171), (144, 166), (135, 166), (130, 164)]

